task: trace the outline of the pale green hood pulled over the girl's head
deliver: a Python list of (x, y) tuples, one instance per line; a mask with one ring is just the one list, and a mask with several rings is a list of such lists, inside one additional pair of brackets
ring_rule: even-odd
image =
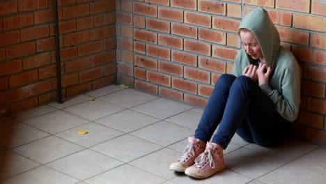
[[(281, 40), (279, 38), (279, 31), (270, 20), (268, 13), (263, 8), (257, 8), (249, 12), (241, 21), (239, 29), (245, 28), (254, 33), (261, 47), (261, 52), (267, 66), (274, 68), (274, 61), (277, 59)], [(238, 29), (238, 30), (239, 30)], [(253, 59), (247, 54), (249, 62), (252, 63)]]

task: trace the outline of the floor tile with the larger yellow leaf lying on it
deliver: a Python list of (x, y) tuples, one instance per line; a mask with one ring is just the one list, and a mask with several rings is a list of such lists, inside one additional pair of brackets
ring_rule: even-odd
[[(88, 133), (86, 135), (79, 135), (77, 130), (86, 130)], [(120, 135), (123, 135), (123, 132), (93, 122), (56, 134), (58, 137), (85, 147), (94, 146), (95, 144), (99, 144)]]

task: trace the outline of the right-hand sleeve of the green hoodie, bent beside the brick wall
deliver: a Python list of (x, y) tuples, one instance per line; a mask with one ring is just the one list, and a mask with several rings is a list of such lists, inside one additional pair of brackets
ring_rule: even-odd
[(272, 89), (269, 82), (261, 89), (270, 96), (277, 111), (286, 120), (293, 122), (297, 118), (300, 106), (301, 69), (297, 62), (289, 61), (281, 74), (281, 92)]

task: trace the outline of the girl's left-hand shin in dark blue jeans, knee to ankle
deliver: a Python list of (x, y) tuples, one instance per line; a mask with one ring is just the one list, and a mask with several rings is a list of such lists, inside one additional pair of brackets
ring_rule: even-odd
[(217, 80), (196, 129), (194, 136), (196, 139), (206, 142), (212, 137), (223, 116), (228, 93), (235, 79), (234, 75), (224, 74)]

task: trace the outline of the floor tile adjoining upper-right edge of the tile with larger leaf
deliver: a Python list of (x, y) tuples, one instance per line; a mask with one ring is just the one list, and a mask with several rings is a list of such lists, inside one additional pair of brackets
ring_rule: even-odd
[(160, 121), (160, 119), (127, 109), (123, 112), (100, 118), (95, 122), (123, 132), (132, 132), (157, 121)]

